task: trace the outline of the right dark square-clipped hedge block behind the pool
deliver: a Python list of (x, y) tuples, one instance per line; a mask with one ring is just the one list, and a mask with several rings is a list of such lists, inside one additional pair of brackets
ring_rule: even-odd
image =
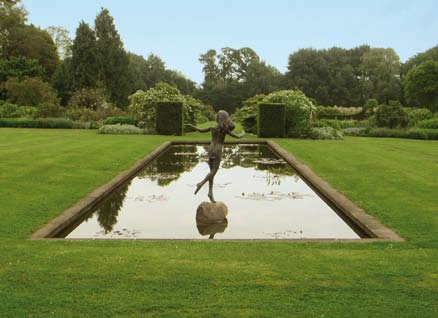
[(286, 106), (281, 103), (258, 105), (257, 135), (259, 137), (284, 137), (286, 134)]

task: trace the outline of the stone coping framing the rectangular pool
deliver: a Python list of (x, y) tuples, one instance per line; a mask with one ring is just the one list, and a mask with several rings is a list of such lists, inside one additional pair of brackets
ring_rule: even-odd
[[(64, 210), (58, 217), (51, 220), (41, 229), (31, 235), (30, 239), (56, 239), (60, 233), (71, 228), (73, 224), (80, 222), (88, 213), (91, 213), (94, 208), (109, 194), (111, 194), (120, 185), (135, 176), (137, 172), (143, 169), (148, 163), (158, 157), (163, 151), (173, 145), (184, 144), (209, 144), (206, 141), (166, 141), (146, 157), (136, 162), (130, 168), (120, 172), (112, 180), (97, 188), (92, 193), (81, 199), (72, 207)], [(360, 236), (361, 239), (239, 239), (239, 240), (217, 240), (217, 241), (294, 241), (294, 242), (375, 242), (375, 241), (404, 241), (397, 233), (390, 228), (380, 223), (376, 218), (367, 214), (363, 209), (355, 205), (342, 193), (334, 189), (329, 183), (324, 181), (316, 173), (314, 173), (307, 165), (299, 161), (287, 150), (281, 148), (277, 143), (266, 141), (228, 141), (225, 144), (258, 144), (269, 146), (280, 158), (284, 159), (300, 177), (313, 188), (321, 198), (326, 201), (338, 215), (349, 224)], [(61, 239), (61, 238), (58, 238)], [(64, 238), (62, 238), (64, 240)], [(76, 240), (76, 239), (74, 239)], [(79, 239), (82, 240), (82, 239)], [(105, 239), (102, 239), (105, 240)], [(142, 240), (142, 239), (137, 239)], [(156, 239), (143, 239), (156, 240)], [(163, 240), (163, 239), (161, 239)], [(174, 240), (174, 239), (169, 239)], [(200, 240), (200, 239), (199, 239)], [(189, 239), (187, 241), (199, 241)], [(159, 241), (159, 240), (157, 240)], [(203, 241), (203, 240), (202, 240)], [(214, 240), (208, 240), (214, 241)]]

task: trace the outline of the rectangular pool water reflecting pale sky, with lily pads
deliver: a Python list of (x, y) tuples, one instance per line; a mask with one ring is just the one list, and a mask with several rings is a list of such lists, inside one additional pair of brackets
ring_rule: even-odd
[(208, 201), (207, 146), (173, 145), (117, 188), (69, 239), (360, 239), (267, 145), (226, 145), (214, 194), (227, 222), (197, 224)]

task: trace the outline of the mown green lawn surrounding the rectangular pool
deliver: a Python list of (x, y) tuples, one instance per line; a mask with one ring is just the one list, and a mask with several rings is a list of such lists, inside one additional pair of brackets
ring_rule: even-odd
[(278, 140), (403, 243), (27, 240), (165, 140), (0, 129), (0, 317), (438, 316), (436, 141)]

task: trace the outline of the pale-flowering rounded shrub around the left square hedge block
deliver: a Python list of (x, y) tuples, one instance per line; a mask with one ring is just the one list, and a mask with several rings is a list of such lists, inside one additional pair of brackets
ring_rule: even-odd
[(129, 110), (138, 119), (141, 127), (154, 130), (156, 122), (156, 107), (159, 102), (181, 102), (184, 108), (186, 124), (196, 124), (197, 113), (201, 102), (189, 95), (182, 95), (176, 87), (167, 83), (158, 83), (155, 87), (137, 91), (129, 96)]

